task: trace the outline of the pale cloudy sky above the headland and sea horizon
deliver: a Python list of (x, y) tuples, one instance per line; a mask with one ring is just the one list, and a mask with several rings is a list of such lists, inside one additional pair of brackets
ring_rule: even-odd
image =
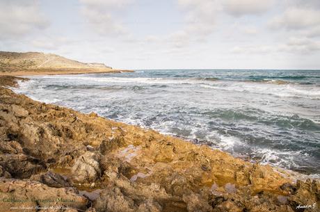
[(0, 0), (0, 51), (119, 69), (320, 69), (319, 0)]

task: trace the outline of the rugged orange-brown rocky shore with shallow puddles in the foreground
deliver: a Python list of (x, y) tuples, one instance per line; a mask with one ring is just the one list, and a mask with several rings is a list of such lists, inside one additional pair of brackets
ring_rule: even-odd
[(319, 180), (33, 101), (17, 80), (0, 76), (0, 211), (320, 211)]

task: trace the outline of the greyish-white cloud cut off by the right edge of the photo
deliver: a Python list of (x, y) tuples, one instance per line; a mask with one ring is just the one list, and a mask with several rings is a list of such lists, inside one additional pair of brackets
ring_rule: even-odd
[(269, 26), (273, 29), (287, 28), (289, 30), (319, 25), (320, 12), (313, 8), (288, 8), (285, 13), (269, 22)]

